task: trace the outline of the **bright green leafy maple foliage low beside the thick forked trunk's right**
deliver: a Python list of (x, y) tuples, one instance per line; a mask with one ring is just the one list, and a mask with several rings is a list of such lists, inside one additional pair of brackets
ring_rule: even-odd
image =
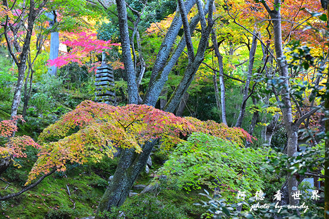
[[(251, 192), (264, 187), (266, 170), (261, 169), (268, 148), (242, 148), (230, 141), (204, 133), (193, 133), (188, 141), (174, 150), (158, 174), (178, 189), (219, 188), (222, 195), (232, 198), (234, 191)], [(269, 172), (267, 172), (269, 173)]]

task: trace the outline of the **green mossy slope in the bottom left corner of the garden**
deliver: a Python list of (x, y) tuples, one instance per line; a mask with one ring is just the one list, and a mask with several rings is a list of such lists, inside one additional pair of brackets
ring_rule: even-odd
[[(10, 218), (75, 218), (93, 215), (104, 188), (93, 187), (90, 182), (101, 180), (95, 173), (76, 173), (70, 177), (47, 177), (43, 182), (22, 195), (1, 202), (0, 215)], [(6, 183), (0, 182), (4, 188)], [(70, 196), (68, 195), (68, 190)], [(10, 185), (8, 192), (19, 191), (20, 187)], [(2, 194), (5, 194), (2, 192)], [(54, 217), (58, 212), (58, 217)], [(66, 212), (66, 213), (65, 213)], [(65, 213), (65, 214), (64, 214)], [(61, 217), (69, 215), (69, 217)]]

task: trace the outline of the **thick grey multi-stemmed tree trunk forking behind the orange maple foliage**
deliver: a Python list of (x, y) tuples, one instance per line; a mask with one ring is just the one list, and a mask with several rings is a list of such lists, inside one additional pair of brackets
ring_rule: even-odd
[[(195, 4), (195, 1), (196, 0), (187, 0), (187, 2), (184, 4), (186, 11), (190, 11), (192, 6)], [(196, 53), (193, 63), (190, 63), (189, 66), (187, 67), (185, 76), (178, 86), (178, 91), (176, 89), (176, 91), (174, 92), (174, 95), (172, 95), (171, 99), (174, 99), (175, 101), (169, 102), (170, 107), (166, 109), (166, 111), (168, 111), (168, 112), (173, 112), (176, 109), (176, 107), (178, 106), (178, 104), (180, 102), (182, 95), (186, 92), (188, 86), (190, 85), (190, 83), (193, 79), (195, 72), (197, 71), (200, 63), (203, 60), (203, 55), (204, 55), (204, 52), (205, 52), (205, 49), (207, 46), (210, 30), (213, 25), (213, 21), (212, 21), (213, 0), (210, 0), (209, 2), (210, 3), (208, 5), (211, 5), (211, 13), (209, 13), (209, 16), (208, 16), (208, 27), (202, 33), (202, 39), (200, 40), (198, 51)], [(117, 10), (118, 10), (120, 36), (121, 36), (122, 57), (123, 57), (125, 70), (127, 72), (127, 78), (128, 78), (127, 82), (128, 82), (128, 91), (129, 91), (128, 92), (129, 103), (137, 104), (138, 91), (137, 91), (137, 86), (136, 86), (136, 74), (135, 74), (135, 70), (134, 70), (134, 64), (133, 64), (132, 57), (131, 57), (130, 37), (129, 37), (128, 27), (127, 27), (127, 15), (126, 15), (125, 1), (116, 0), (116, 3), (117, 3)], [(210, 9), (208, 8), (208, 10), (210, 10)], [(205, 19), (205, 17), (203, 17), (203, 19)], [(197, 24), (197, 22), (196, 22), (196, 24)], [(195, 24), (195, 26), (196, 26), (196, 24)], [(152, 90), (153, 88), (152, 89), (150, 88), (151, 85), (153, 85), (153, 86), (155, 85), (154, 83), (152, 83), (152, 81), (154, 82), (159, 77), (161, 77), (160, 71), (162, 71), (163, 67), (165, 67), (165, 64), (167, 63), (169, 53), (171, 51), (172, 45), (176, 39), (176, 36), (178, 34), (178, 31), (180, 30), (181, 25), (182, 25), (182, 22), (181, 22), (179, 13), (176, 13), (176, 16), (174, 17), (173, 22), (171, 24), (171, 27), (169, 28), (165, 39), (162, 41), (160, 51), (158, 52), (158, 55), (156, 58), (156, 63), (154, 65), (154, 69), (153, 69), (153, 72), (151, 75), (151, 80), (150, 80), (150, 85), (149, 85), (149, 91), (148, 91), (149, 94), (147, 94), (149, 96), (148, 96), (148, 98), (144, 99), (144, 103), (147, 105), (151, 105), (151, 106), (155, 105), (155, 103), (157, 102), (157, 99), (159, 97), (159, 94), (163, 88), (163, 85), (165, 84), (164, 79), (168, 78), (168, 75), (167, 76), (165, 75), (165, 77), (162, 77), (162, 79), (160, 80), (161, 82), (159, 84), (157, 84), (156, 87), (153, 87), (154, 90)], [(194, 30), (192, 27), (191, 27), (191, 29)], [(185, 47), (185, 45), (184, 45), (184, 47)], [(182, 50), (184, 49), (184, 47), (182, 48)], [(178, 48), (181, 49), (181, 47), (179, 47), (179, 46), (178, 46)], [(179, 50), (176, 50), (176, 51), (178, 51), (178, 52), (177, 53), (175, 52), (174, 55), (176, 54), (175, 57), (177, 55), (179, 57), (181, 52), (179, 53)], [(172, 58), (171, 58), (171, 60), (172, 60)], [(170, 66), (170, 65), (167, 65), (167, 66)], [(169, 69), (168, 74), (169, 74), (170, 70), (171, 69)], [(167, 104), (167, 106), (168, 106), (168, 104)], [(135, 153), (135, 151), (133, 149), (122, 150), (121, 156), (119, 159), (119, 164), (118, 164), (118, 167), (114, 174), (113, 180), (112, 180), (111, 184), (107, 187), (107, 189), (101, 199), (99, 208), (97, 210), (97, 214), (100, 212), (109, 211), (109, 210), (111, 210), (111, 208), (113, 206), (120, 206), (125, 201), (134, 181), (136, 180), (136, 177), (145, 168), (145, 165), (147, 163), (148, 157), (151, 153), (153, 146), (154, 146), (154, 142), (145, 144), (142, 149), (143, 151), (140, 154)], [(101, 218), (101, 217), (96, 215), (96, 219), (98, 219), (98, 218)]]

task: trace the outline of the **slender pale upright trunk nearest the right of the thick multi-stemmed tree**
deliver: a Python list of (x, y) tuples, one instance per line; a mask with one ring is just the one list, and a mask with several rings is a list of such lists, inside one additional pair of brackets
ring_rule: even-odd
[[(217, 56), (218, 60), (218, 67), (220, 68), (220, 86), (221, 86), (221, 109), (222, 109), (222, 123), (227, 125), (226, 121), (226, 106), (225, 106), (225, 84), (224, 84), (224, 68), (223, 68), (223, 56), (220, 53), (220, 50), (218, 49), (218, 43), (217, 43), (217, 36), (214, 30), (212, 30), (211, 33), (212, 38), (212, 44), (214, 46), (215, 55)], [(216, 73), (214, 72), (214, 75), (216, 76)], [(217, 78), (213, 76), (214, 86), (215, 86), (215, 94), (216, 94), (216, 102), (218, 106), (217, 101), (217, 93), (218, 93), (218, 87), (217, 87)]]

